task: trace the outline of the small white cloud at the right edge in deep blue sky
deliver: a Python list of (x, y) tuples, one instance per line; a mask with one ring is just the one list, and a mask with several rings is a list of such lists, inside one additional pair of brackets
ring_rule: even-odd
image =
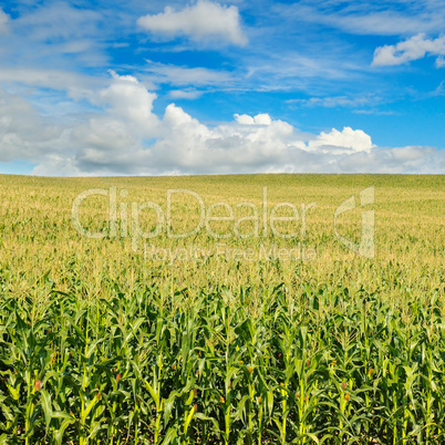
[(442, 66), (445, 55), (445, 35), (427, 39), (421, 33), (395, 45), (380, 46), (374, 52), (374, 66), (401, 65), (412, 60), (423, 59), (426, 54), (438, 55), (436, 65)]

